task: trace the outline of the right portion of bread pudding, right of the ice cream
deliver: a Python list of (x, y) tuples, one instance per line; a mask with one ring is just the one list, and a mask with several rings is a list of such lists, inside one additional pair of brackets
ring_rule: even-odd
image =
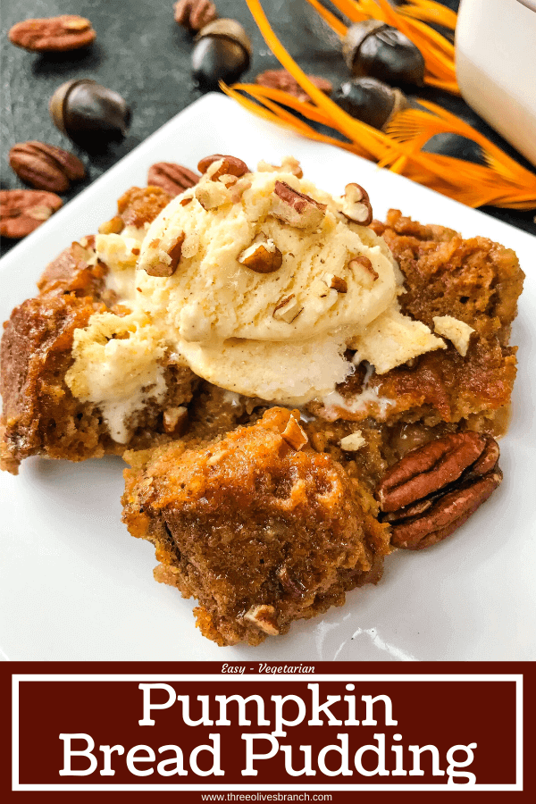
[(464, 240), (454, 230), (414, 222), (398, 210), (372, 228), (404, 274), (402, 311), (432, 330), (448, 317), (473, 332), (465, 355), (447, 340), (447, 349), (385, 374), (362, 363), (332, 400), (311, 411), (331, 421), (460, 423), (501, 435), (515, 381), (516, 347), (508, 338), (524, 276), (515, 253), (486, 238)]

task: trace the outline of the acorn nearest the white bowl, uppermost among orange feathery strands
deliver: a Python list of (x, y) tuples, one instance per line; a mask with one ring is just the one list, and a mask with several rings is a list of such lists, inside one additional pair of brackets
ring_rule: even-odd
[(423, 86), (423, 54), (403, 33), (385, 22), (364, 20), (351, 25), (342, 52), (352, 75), (370, 75), (396, 86)]

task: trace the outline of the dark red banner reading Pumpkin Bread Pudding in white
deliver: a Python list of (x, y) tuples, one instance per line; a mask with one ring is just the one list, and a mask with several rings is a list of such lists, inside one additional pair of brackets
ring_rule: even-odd
[(528, 667), (5, 663), (12, 792), (518, 793)]

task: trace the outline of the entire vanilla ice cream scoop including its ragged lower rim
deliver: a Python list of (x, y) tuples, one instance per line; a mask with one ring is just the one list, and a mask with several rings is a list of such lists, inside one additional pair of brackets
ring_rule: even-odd
[[(220, 165), (163, 209), (136, 269), (138, 304), (194, 373), (247, 396), (299, 405), (344, 380), (353, 340), (380, 371), (444, 346), (397, 313), (402, 277), (389, 247), (348, 220), (341, 199), (284, 169), (237, 180), (218, 178)], [(281, 183), (284, 194), (305, 196), (306, 207), (321, 213), (313, 209), (310, 223), (286, 218)], [(270, 272), (248, 263), (257, 248), (264, 248), (260, 269)], [(389, 337), (381, 339), (374, 322), (388, 311)]]

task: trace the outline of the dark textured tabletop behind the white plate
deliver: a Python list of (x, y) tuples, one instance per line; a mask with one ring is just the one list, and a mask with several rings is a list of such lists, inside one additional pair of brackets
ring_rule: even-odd
[[(456, 8), (458, 3), (446, 0), (445, 4)], [(192, 40), (173, 21), (172, 0), (1, 0), (1, 5), (2, 188), (23, 187), (7, 162), (10, 147), (16, 142), (38, 139), (71, 150), (88, 166), (88, 180), (63, 194), (67, 201), (201, 94), (190, 78)], [(252, 38), (254, 56), (244, 80), (253, 80), (259, 72), (279, 66), (258, 33), (245, 0), (216, 0), (216, 5), (221, 17), (242, 22)], [(305, 71), (326, 76), (334, 86), (348, 79), (342, 58), (330, 42), (318, 38), (309, 24), (302, 0), (264, 0), (264, 10), (281, 41)], [(77, 13), (91, 20), (97, 38), (88, 51), (38, 55), (9, 42), (7, 31), (15, 22), (60, 13)], [(115, 89), (132, 107), (128, 137), (113, 144), (105, 154), (80, 151), (50, 120), (48, 101), (54, 89), (63, 81), (77, 78), (95, 79)], [(431, 89), (422, 94), (463, 115), (508, 149), (463, 101)], [(180, 162), (180, 143), (177, 161)], [(485, 211), (536, 234), (533, 211)], [(0, 253), (4, 254), (14, 242), (2, 239)]]

